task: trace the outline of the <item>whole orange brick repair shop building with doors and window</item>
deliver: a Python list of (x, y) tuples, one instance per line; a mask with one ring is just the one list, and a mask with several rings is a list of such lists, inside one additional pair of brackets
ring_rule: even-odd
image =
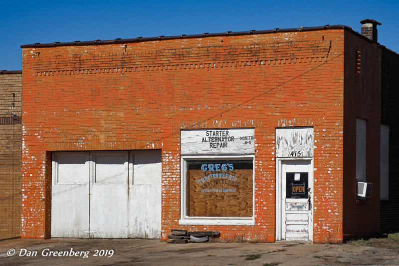
[(376, 39), (326, 25), (21, 47), (23, 238), (381, 231)]

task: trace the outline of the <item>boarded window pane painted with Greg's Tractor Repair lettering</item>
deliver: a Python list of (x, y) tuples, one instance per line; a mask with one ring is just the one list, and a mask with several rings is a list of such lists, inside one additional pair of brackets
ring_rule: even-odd
[(253, 162), (188, 161), (187, 215), (252, 217)]

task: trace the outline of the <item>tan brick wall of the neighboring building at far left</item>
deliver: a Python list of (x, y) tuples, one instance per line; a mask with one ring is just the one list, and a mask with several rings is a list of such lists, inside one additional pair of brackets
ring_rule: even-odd
[[(0, 73), (0, 239), (21, 234), (20, 71)], [(15, 115), (14, 115), (15, 114)]]

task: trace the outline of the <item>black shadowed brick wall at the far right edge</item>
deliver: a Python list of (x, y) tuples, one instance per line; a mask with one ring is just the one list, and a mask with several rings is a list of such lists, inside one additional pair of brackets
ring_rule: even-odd
[(381, 202), (381, 231), (399, 231), (399, 55), (382, 48), (381, 123), (390, 127), (389, 201)]

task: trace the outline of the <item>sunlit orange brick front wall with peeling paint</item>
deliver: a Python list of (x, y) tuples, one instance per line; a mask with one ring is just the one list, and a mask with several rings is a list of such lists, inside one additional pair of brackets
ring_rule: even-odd
[[(315, 134), (314, 241), (342, 241), (344, 29), (23, 48), (22, 237), (50, 237), (51, 151), (162, 149), (171, 229), (275, 240), (275, 128)], [(255, 226), (179, 226), (180, 130), (255, 128)]]

